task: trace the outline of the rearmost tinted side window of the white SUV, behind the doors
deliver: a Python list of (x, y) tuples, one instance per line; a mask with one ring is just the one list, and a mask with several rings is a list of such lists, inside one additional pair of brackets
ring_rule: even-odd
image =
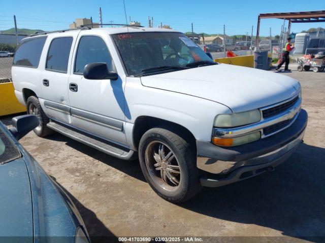
[(38, 67), (46, 36), (22, 41), (14, 57), (14, 66)]

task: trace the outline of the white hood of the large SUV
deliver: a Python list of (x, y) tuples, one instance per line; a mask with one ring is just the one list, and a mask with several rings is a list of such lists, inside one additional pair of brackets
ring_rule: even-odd
[(241, 112), (268, 106), (299, 92), (297, 80), (274, 72), (228, 64), (141, 77), (142, 85), (196, 96)]

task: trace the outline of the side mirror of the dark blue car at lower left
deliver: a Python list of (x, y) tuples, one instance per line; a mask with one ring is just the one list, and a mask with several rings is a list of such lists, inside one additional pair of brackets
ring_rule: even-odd
[(10, 132), (19, 140), (31, 130), (40, 125), (39, 118), (36, 115), (19, 115), (12, 118), (13, 128)]

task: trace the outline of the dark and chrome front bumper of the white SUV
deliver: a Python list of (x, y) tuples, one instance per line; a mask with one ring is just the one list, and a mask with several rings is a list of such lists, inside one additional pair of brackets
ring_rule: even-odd
[(282, 132), (236, 147), (223, 148), (197, 140), (197, 167), (208, 172), (201, 184), (217, 187), (273, 170), (301, 143), (307, 120), (307, 112), (302, 109), (295, 122)]

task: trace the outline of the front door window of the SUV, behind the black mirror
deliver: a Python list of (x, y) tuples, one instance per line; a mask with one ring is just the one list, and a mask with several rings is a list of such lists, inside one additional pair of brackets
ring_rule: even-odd
[(79, 41), (74, 72), (81, 74), (88, 63), (94, 62), (105, 62), (109, 71), (115, 71), (111, 54), (104, 40), (99, 36), (83, 36)]

